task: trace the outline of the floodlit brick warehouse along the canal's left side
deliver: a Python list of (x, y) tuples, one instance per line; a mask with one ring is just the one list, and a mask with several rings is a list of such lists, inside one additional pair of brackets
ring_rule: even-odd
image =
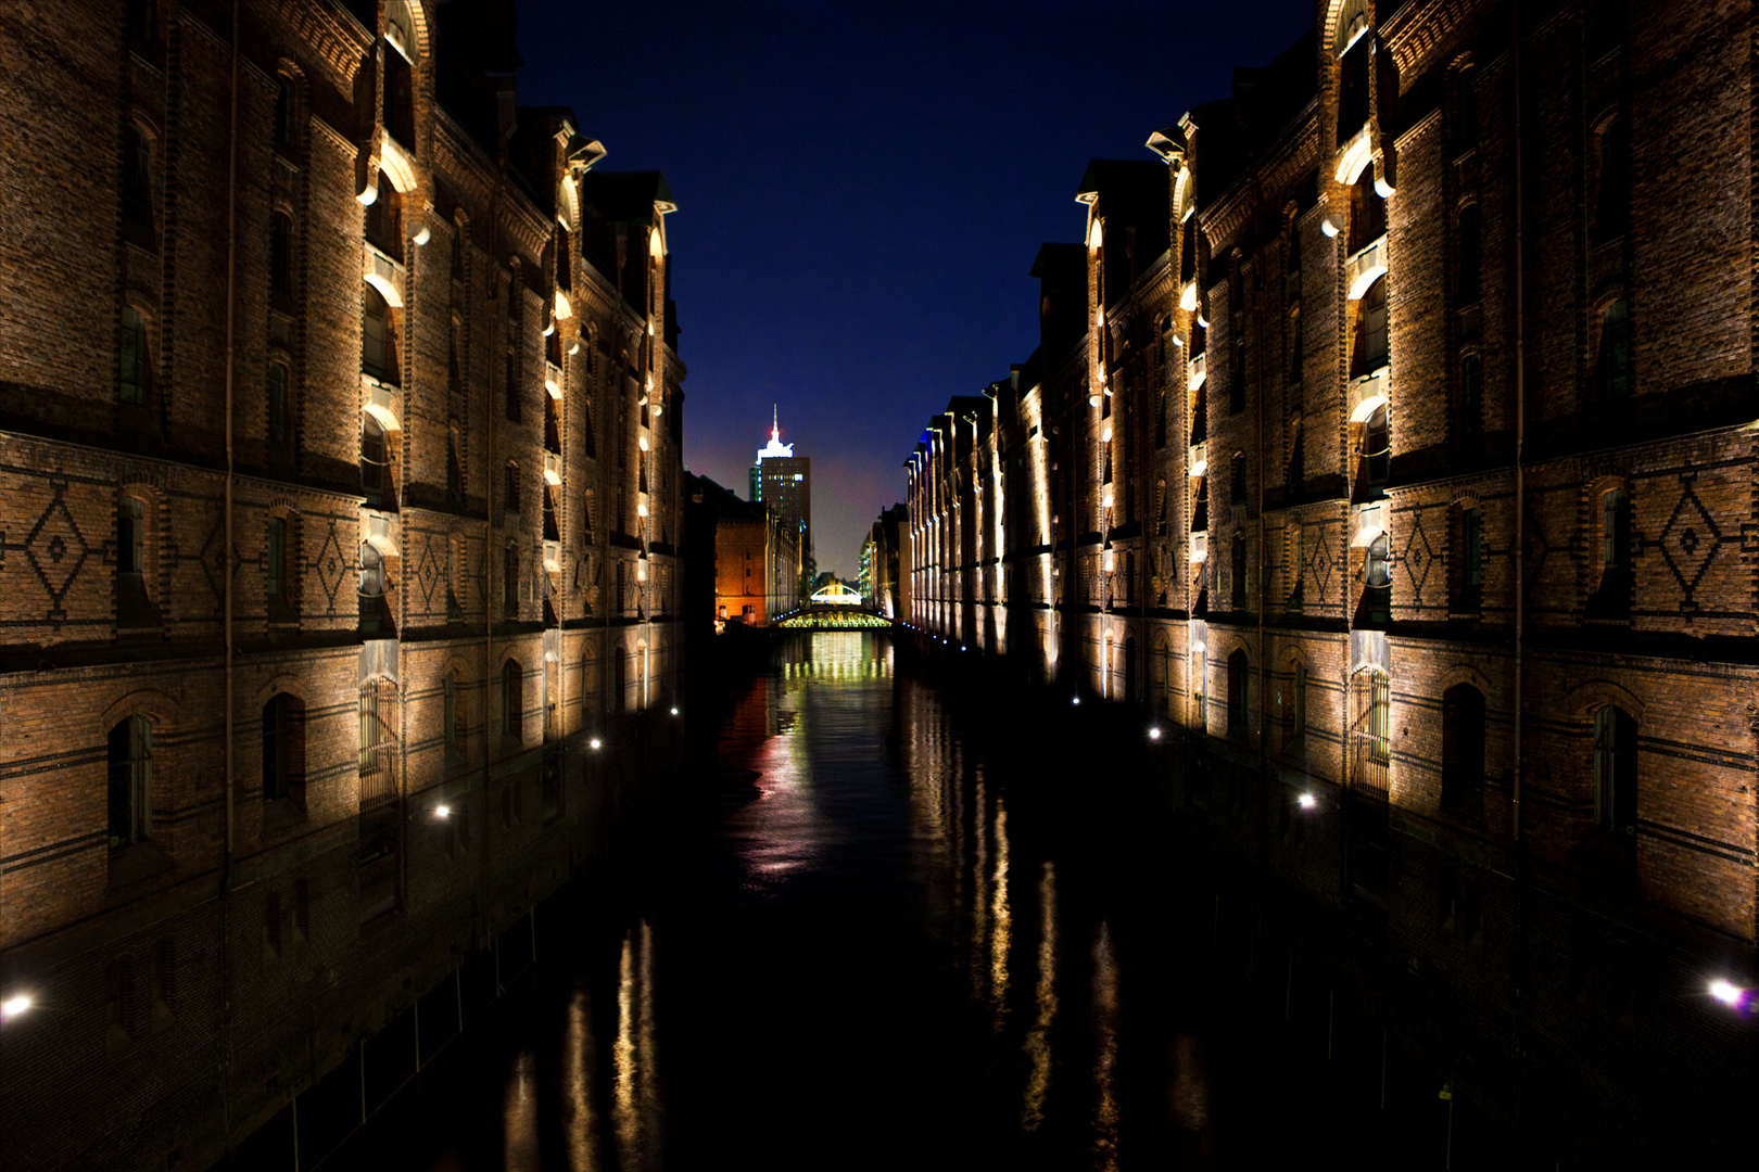
[(364, 1103), (675, 740), (672, 195), (507, 12), (0, 21), (7, 1168)]

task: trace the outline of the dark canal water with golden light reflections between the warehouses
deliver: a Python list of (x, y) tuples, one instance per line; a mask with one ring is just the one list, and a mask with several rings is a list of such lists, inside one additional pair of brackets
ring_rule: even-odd
[(1513, 1167), (1170, 857), (1145, 738), (983, 692), (777, 645), (665, 833), (320, 1167)]

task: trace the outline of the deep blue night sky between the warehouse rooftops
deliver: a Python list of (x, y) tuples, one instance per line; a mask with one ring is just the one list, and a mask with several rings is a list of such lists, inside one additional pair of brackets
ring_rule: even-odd
[(519, 98), (605, 170), (663, 170), (684, 464), (741, 496), (813, 457), (820, 569), (855, 576), (927, 418), (1036, 346), (1027, 269), (1080, 241), (1089, 158), (1231, 91), (1314, 0), (519, 0)]

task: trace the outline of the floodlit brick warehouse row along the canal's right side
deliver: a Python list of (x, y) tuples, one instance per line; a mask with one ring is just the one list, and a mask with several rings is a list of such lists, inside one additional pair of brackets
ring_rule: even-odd
[(1186, 842), (1365, 942), (1530, 1142), (1733, 1142), (1752, 16), (1316, 16), (1161, 163), (1089, 167), (1038, 351), (906, 462), (911, 622), (1140, 705)]

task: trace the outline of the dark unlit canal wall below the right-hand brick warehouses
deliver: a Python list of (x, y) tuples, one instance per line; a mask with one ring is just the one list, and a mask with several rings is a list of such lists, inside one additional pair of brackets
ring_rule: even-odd
[(1217, 996), (1303, 1047), (1325, 1086), (1291, 1093), (1342, 1081), (1349, 1102), (1418, 1121), (1411, 1167), (1743, 1149), (1755, 1030), (1706, 993), (1741, 972), (1738, 942), (1142, 706), (1029, 684), (1004, 657), (925, 633), (897, 647), (969, 724), (1018, 742), (1025, 777), (1140, 852), (1143, 898), (1208, 945)]

